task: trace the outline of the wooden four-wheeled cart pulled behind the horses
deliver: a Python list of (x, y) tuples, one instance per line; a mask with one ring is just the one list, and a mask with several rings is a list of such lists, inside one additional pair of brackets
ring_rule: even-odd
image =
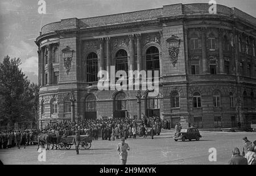
[[(67, 137), (61, 137), (60, 142), (58, 144), (58, 148), (61, 150), (64, 149), (70, 149), (71, 146), (75, 143), (73, 143), (73, 139), (75, 136), (67, 136)], [(92, 140), (93, 137), (89, 135), (80, 135), (80, 144), (79, 144), (79, 149), (89, 149), (90, 146), (92, 145)]]

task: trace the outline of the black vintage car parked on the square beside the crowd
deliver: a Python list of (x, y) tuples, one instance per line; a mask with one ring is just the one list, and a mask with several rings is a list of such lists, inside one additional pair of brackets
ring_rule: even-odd
[(191, 141), (192, 139), (195, 139), (195, 140), (199, 141), (200, 137), (202, 137), (202, 136), (200, 135), (199, 130), (197, 128), (192, 127), (192, 128), (187, 128), (187, 129), (181, 129), (181, 131), (179, 133), (176, 133), (174, 135), (174, 140), (175, 141), (177, 141), (177, 140)]

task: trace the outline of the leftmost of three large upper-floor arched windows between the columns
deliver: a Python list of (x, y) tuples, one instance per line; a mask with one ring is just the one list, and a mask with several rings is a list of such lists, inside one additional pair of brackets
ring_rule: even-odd
[(96, 82), (98, 74), (98, 57), (96, 53), (90, 53), (86, 58), (87, 82)]

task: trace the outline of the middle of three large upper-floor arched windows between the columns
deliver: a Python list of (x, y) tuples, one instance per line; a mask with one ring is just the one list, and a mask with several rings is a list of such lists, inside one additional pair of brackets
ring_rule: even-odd
[(120, 49), (115, 55), (115, 71), (124, 70), (128, 76), (128, 62), (127, 52), (124, 49)]

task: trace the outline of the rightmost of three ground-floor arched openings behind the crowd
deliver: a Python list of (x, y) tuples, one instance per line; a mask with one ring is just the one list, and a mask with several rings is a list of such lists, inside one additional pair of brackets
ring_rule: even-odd
[(146, 96), (146, 116), (159, 116), (160, 115), (160, 98), (159, 95), (156, 97)]

